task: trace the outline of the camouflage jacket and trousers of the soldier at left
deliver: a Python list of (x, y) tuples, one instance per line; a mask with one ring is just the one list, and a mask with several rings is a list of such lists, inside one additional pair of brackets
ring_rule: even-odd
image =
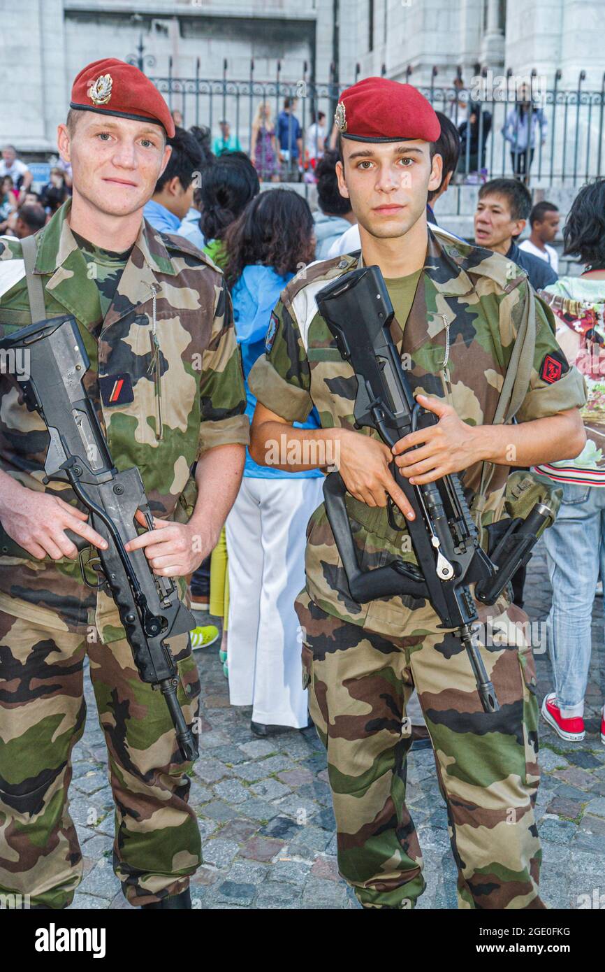
[[(213, 446), (249, 438), (222, 275), (186, 240), (144, 222), (116, 288), (111, 260), (96, 279), (87, 272), (91, 261), (76, 245), (68, 211), (69, 203), (37, 237), (47, 316), (78, 320), (90, 359), (87, 391), (116, 466), (140, 469), (155, 517), (183, 521), (195, 502), (195, 460)], [(20, 244), (4, 239), (1, 331), (30, 321)], [(132, 394), (112, 403), (118, 376)], [(0, 381), (2, 469), (43, 490), (46, 426), (27, 411), (13, 375)], [(68, 485), (46, 490), (75, 502)], [(183, 592), (182, 578), (180, 585)], [(197, 669), (186, 635), (172, 648), (190, 724)], [(0, 890), (60, 908), (81, 879), (67, 787), (71, 750), (84, 730), (86, 653), (110, 754), (115, 869), (131, 904), (151, 903), (184, 890), (201, 860), (187, 805), (191, 767), (176, 747), (164, 699), (138, 676), (113, 599), (84, 586), (78, 562), (67, 558), (0, 558)]]

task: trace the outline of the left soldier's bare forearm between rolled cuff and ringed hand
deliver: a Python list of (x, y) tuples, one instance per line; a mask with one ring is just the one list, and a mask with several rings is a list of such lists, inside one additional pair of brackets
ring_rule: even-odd
[(227, 518), (240, 488), (246, 460), (243, 445), (235, 443), (216, 445), (202, 454), (195, 469), (197, 501), (189, 525), (218, 541), (220, 530)]

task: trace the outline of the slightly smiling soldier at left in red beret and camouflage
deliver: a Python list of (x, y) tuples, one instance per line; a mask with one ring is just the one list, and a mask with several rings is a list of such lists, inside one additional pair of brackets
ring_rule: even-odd
[[(141, 471), (154, 529), (128, 548), (144, 547), (154, 573), (180, 578), (183, 592), (183, 575), (212, 550), (236, 496), (249, 432), (222, 275), (142, 216), (174, 131), (164, 99), (137, 68), (108, 59), (80, 72), (58, 127), (73, 200), (36, 234), (34, 277), (46, 317), (78, 321), (91, 363), (87, 391), (118, 469)], [(3, 334), (32, 320), (28, 283), (21, 244), (0, 241)], [(0, 890), (58, 909), (81, 881), (67, 789), (84, 730), (87, 654), (109, 749), (123, 892), (131, 905), (190, 908), (189, 877), (201, 860), (187, 804), (191, 764), (162, 695), (134, 667), (113, 599), (82, 582), (65, 530), (104, 541), (70, 487), (44, 487), (46, 426), (25, 407), (16, 377), (1, 381), (0, 519), (35, 559), (0, 558)], [(197, 669), (186, 635), (171, 646), (190, 725)]]

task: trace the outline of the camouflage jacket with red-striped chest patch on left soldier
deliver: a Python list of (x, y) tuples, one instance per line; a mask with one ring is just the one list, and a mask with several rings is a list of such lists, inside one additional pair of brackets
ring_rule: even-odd
[[(179, 236), (143, 221), (103, 319), (97, 283), (67, 222), (70, 203), (37, 234), (36, 273), (48, 318), (72, 314), (84, 339), (93, 400), (118, 469), (137, 466), (154, 516), (186, 519), (195, 500), (190, 467), (206, 449), (246, 444), (249, 423), (231, 301), (222, 273)], [(0, 334), (31, 323), (18, 240), (0, 239)], [(159, 349), (153, 349), (153, 330)], [(101, 394), (124, 377), (128, 394)], [(131, 391), (130, 391), (131, 386)], [(132, 400), (128, 400), (132, 399)], [(23, 486), (45, 489), (49, 444), (43, 420), (23, 404), (16, 378), (0, 375), (0, 464)], [(68, 485), (47, 491), (68, 503)], [(179, 515), (180, 514), (180, 515)], [(182, 588), (184, 584), (182, 583)], [(51, 628), (95, 624), (105, 641), (123, 637), (111, 598), (82, 581), (78, 561), (0, 558), (0, 608)]]

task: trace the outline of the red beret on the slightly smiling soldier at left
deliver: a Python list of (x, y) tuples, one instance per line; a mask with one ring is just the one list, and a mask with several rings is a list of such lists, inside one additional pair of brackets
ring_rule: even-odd
[(87, 64), (72, 87), (70, 108), (118, 115), (122, 119), (163, 125), (168, 138), (175, 133), (170, 109), (150, 79), (134, 64), (116, 57)]

